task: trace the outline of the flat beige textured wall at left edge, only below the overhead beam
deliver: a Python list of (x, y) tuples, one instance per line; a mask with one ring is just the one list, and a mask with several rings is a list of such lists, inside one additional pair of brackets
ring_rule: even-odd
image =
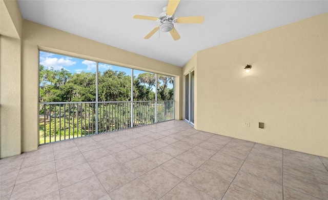
[(0, 35), (0, 158), (20, 154), (20, 40)]

